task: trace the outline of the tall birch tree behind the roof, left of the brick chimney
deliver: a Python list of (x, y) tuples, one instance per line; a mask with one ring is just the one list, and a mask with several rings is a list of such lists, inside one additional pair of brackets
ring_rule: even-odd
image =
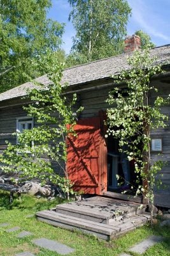
[(77, 62), (94, 61), (122, 53), (125, 26), (131, 14), (126, 0), (68, 1), (73, 7), (69, 20), (73, 21), (76, 30), (72, 51)]

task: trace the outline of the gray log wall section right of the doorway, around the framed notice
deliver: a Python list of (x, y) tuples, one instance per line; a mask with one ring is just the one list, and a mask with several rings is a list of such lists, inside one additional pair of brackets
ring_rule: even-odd
[[(170, 80), (170, 79), (169, 79)], [(159, 95), (160, 97), (167, 98), (170, 94), (170, 84), (167, 79), (163, 81), (153, 81), (154, 86), (159, 90), (158, 93), (151, 93), (150, 104)], [(153, 139), (162, 139), (162, 152), (152, 152), (152, 161), (162, 160), (165, 166), (162, 168), (157, 179), (162, 180), (160, 188), (155, 188), (155, 204), (162, 207), (170, 207), (170, 106), (162, 106), (162, 113), (166, 114), (169, 118), (167, 126), (159, 127), (157, 130), (151, 132)], [(160, 154), (159, 154), (160, 153)]]

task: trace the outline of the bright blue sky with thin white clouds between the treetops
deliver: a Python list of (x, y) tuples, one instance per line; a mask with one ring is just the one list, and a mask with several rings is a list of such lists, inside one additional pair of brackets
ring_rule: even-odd
[[(107, 1), (107, 0), (106, 0)], [(142, 29), (148, 33), (157, 46), (170, 44), (170, 0), (127, 0), (132, 16), (127, 24), (127, 35)], [(53, 6), (48, 17), (66, 24), (63, 48), (69, 53), (75, 31), (68, 21), (71, 10), (67, 0), (52, 0)]]

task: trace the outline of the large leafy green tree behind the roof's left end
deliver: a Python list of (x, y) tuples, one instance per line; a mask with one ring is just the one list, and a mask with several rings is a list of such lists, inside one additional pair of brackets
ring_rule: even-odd
[(50, 6), (51, 0), (1, 0), (0, 92), (45, 74), (45, 67), (36, 71), (37, 58), (59, 49), (64, 29), (46, 18)]

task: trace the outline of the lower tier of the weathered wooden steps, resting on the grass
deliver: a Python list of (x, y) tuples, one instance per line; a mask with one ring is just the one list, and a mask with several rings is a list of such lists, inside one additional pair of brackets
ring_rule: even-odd
[(36, 213), (39, 221), (46, 222), (55, 227), (66, 228), (69, 230), (81, 230), (87, 234), (93, 234), (101, 239), (110, 240), (113, 237), (118, 237), (129, 230), (144, 225), (147, 216), (132, 216), (125, 221), (118, 221), (114, 225), (97, 223), (96, 221), (76, 218), (59, 212), (45, 210)]

